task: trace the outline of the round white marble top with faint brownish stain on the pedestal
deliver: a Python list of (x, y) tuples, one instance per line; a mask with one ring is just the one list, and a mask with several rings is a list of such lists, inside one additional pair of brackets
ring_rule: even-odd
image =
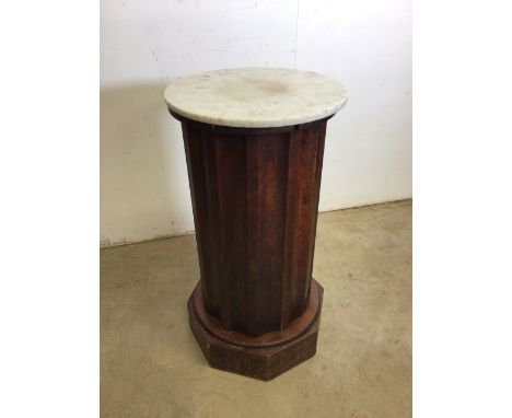
[(174, 80), (165, 89), (174, 113), (212, 125), (270, 128), (330, 116), (347, 89), (328, 77), (287, 68), (237, 68)]

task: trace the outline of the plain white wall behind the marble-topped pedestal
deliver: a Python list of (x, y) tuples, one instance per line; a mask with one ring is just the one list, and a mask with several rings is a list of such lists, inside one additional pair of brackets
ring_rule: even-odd
[(230, 67), (313, 70), (349, 89), (328, 123), (321, 210), (411, 196), (410, 0), (102, 0), (101, 240), (194, 230), (163, 90)]

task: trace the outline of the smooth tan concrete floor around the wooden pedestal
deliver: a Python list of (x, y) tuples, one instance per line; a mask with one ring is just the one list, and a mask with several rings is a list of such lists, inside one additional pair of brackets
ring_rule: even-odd
[(411, 201), (322, 213), (316, 356), (270, 382), (210, 369), (188, 328), (194, 235), (101, 252), (109, 417), (410, 417)]

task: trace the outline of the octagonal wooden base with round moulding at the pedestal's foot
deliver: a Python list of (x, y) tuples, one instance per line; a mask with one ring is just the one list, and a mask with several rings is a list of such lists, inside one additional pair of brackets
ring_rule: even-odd
[(230, 345), (211, 334), (199, 321), (193, 294), (188, 299), (188, 320), (190, 328), (212, 368), (243, 374), (264, 381), (276, 378), (287, 370), (313, 357), (316, 352), (322, 297), (324, 289), (312, 280), (312, 288), (318, 294), (317, 312), (314, 321), (292, 340), (264, 348), (244, 348)]

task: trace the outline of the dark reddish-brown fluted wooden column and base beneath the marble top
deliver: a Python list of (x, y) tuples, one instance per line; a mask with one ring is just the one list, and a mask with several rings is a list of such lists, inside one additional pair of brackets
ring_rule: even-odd
[[(328, 118), (252, 129), (173, 116), (183, 127), (199, 253), (191, 328), (212, 367), (274, 378), (316, 349), (322, 288), (312, 287), (312, 269)], [(274, 363), (254, 359), (268, 350), (282, 351), (288, 365), (261, 371)], [(245, 352), (249, 365), (230, 367), (240, 364), (226, 360), (233, 352)]]

